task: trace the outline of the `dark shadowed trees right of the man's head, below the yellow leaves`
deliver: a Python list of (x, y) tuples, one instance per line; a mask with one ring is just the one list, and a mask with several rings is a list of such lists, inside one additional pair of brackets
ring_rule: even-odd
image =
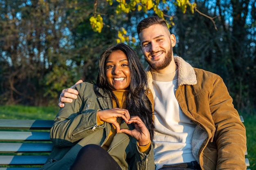
[[(175, 26), (173, 30), (178, 37), (178, 43), (173, 49), (174, 53), (180, 55), (192, 66), (202, 68), (222, 77), (231, 97), (234, 99), (235, 107), (240, 110), (255, 108), (256, 65), (255, 60), (255, 34), (250, 31), (252, 28), (245, 21), (250, 14), (249, 9), (243, 12), (243, 5), (249, 7), (249, 1), (230, 1), (234, 8), (229, 13), (221, 12), (215, 24), (199, 13), (176, 11)], [(229, 4), (214, 4), (205, 8), (207, 2), (198, 2), (197, 8), (202, 13), (212, 11), (209, 16), (218, 13), (216, 9), (229, 8)], [(242, 10), (242, 11), (240, 11)], [(239, 12), (240, 11), (240, 12)], [(247, 15), (246, 15), (247, 14)], [(232, 16), (232, 22), (227, 20)], [(256, 16), (251, 18), (252, 21)], [(250, 29), (249, 29), (249, 27)], [(247, 39), (246, 37), (253, 37)], [(255, 67), (256, 68), (256, 67)]]

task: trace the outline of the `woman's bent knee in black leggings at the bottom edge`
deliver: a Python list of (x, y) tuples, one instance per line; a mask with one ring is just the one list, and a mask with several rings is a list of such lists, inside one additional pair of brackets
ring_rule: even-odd
[(70, 170), (121, 170), (121, 168), (106, 150), (90, 144), (81, 148)]

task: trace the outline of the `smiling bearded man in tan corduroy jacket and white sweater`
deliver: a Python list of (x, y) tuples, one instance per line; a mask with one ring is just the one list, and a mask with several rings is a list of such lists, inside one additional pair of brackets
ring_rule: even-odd
[[(137, 33), (155, 102), (155, 169), (245, 170), (245, 126), (222, 78), (173, 56), (176, 38), (161, 18), (141, 20)], [(74, 94), (64, 89), (59, 106)]]

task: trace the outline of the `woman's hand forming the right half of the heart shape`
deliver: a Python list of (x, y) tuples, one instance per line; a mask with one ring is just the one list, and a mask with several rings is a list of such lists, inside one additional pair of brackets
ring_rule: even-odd
[(148, 131), (148, 128), (143, 123), (143, 121), (138, 117), (134, 116), (130, 118), (128, 121), (128, 124), (133, 123), (135, 125), (135, 129), (128, 130), (128, 129), (121, 129), (119, 132), (126, 133), (135, 139), (137, 139), (139, 146), (146, 146), (150, 143), (150, 133)]

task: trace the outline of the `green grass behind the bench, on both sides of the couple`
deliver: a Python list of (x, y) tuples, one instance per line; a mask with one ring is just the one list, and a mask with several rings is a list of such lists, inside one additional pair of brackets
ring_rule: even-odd
[[(47, 119), (53, 120), (58, 113), (56, 107), (0, 106), (0, 119)], [(251, 170), (256, 170), (256, 114), (245, 114), (247, 152)], [(238, 139), (239, 140), (239, 139)]]

